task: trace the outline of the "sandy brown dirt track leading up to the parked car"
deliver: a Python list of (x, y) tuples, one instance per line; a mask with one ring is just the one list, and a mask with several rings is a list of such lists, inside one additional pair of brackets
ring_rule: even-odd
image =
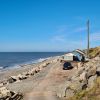
[(48, 71), (44, 71), (43, 79), (39, 80), (39, 83), (30, 93), (26, 93), (25, 98), (27, 100), (28, 98), (30, 98), (29, 100), (59, 100), (57, 97), (59, 86), (63, 85), (68, 76), (71, 76), (75, 70), (62, 70), (62, 67), (59, 62), (49, 65)]

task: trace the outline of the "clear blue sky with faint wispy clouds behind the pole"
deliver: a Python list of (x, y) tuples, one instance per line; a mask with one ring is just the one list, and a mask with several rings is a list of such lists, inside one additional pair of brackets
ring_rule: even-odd
[(1, 52), (58, 52), (100, 46), (100, 0), (0, 0)]

